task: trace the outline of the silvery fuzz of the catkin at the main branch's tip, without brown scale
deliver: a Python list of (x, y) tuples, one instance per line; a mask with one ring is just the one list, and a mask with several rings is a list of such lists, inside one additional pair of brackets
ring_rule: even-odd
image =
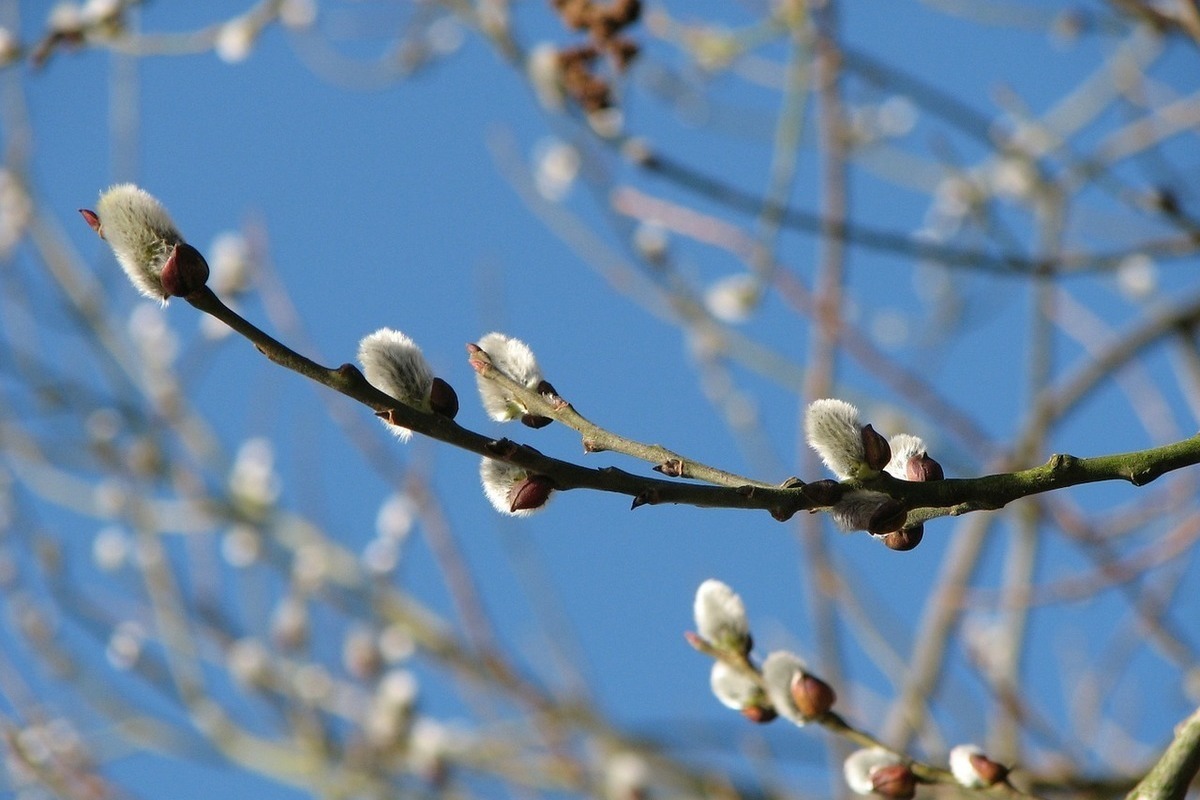
[(119, 184), (101, 193), (96, 216), (100, 234), (137, 290), (166, 302), (162, 270), (175, 246), (184, 243), (167, 209), (145, 190)]

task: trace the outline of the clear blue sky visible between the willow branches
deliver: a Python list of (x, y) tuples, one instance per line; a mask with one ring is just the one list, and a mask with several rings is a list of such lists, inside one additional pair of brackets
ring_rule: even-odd
[[(31, 36), (40, 30), (50, 4), (5, 5), (10, 17), (19, 5), (20, 30)], [(730, 5), (666, 7), (684, 19), (710, 16), (728, 25), (743, 25), (751, 18), (744, 7)], [(1044, 31), (1020, 28), (989, 29), (980, 36), (971, 20), (942, 13), (937, 5), (896, 2), (881, 10), (878, 4), (844, 4), (846, 42), (936, 83), (985, 116), (997, 114), (1002, 89), (1033, 113), (1044, 112), (1088, 74), (1098, 54), (1111, 53), (1118, 44), (1103, 36), (1084, 36), (1069, 46), (1048, 44)], [(148, 4), (139, 17), (146, 31), (186, 30), (245, 7), (229, 1), (161, 0)], [(340, 30), (340, 22), (361, 13), (371, 20), (371, 30), (380, 34), (394, 30), (412, 13), (408, 4), (401, 4), (401, 10), (382, 2), (320, 7), (322, 24), (331, 30)], [(572, 41), (544, 4), (522, 5), (516, 19), (526, 46), (540, 38)], [(445, 35), (454, 29), (440, 30)], [(523, 77), (478, 35), (460, 34), (461, 44), (449, 58), (410, 79), (372, 91), (347, 91), (314, 76), (305, 64), (304, 54), (310, 52), (305, 40), (278, 28), (269, 29), (248, 58), (236, 64), (200, 53), (148, 58), (131, 66), (124, 59), (84, 50), (60, 53), (41, 71), (23, 66), (5, 77), (19, 80), (25, 92), (34, 131), (30, 179), (37, 201), (66, 227), (70, 242), (120, 308), (132, 309), (138, 301), (121, 285), (115, 263), (79, 223), (76, 209), (94, 204), (97, 193), (114, 181), (136, 180), (163, 200), (184, 234), (202, 249), (223, 231), (247, 224), (265, 230), (274, 277), (294, 303), (311, 344), (311, 349), (308, 344), (304, 348), (308, 355), (336, 365), (350, 361), (359, 338), (378, 327), (398, 327), (410, 335), (438, 373), (457, 387), (463, 401), (458, 421), (467, 427), (512, 435), (563, 458), (584, 459), (578, 438), (569, 431), (557, 426), (538, 432), (500, 429), (482, 414), (463, 344), (500, 329), (527, 341), (558, 391), (601, 425), (763, 480), (794, 474), (803, 446), (798, 433), (802, 403), (796, 393), (740, 367), (731, 368), (732, 380), (757, 410), (768, 443), (769, 458), (748, 459), (736, 434), (706, 397), (686, 337), (673, 324), (614, 293), (602, 275), (589, 269), (588, 253), (556, 236), (505, 178), (514, 168), (508, 160), (516, 155), (528, 166), (532, 154), (542, 146), (539, 143), (556, 137), (577, 143), (590, 154), (587, 168), (596, 174), (605, 170), (616, 185), (694, 203), (701, 211), (748, 230), (754, 229), (754, 221), (660, 179), (640, 175), (577, 121), (546, 114)], [(635, 35), (640, 34), (635, 29)], [(361, 58), (378, 52), (386, 41), (385, 35), (372, 36), (356, 28), (341, 46)], [(636, 67), (622, 86), (629, 131), (743, 191), (761, 192), (767, 182), (778, 92), (719, 74), (696, 80), (708, 103), (689, 112), (698, 116), (672, 113), (654, 97), (654, 70), (694, 71), (689, 72), (679, 53), (661, 41), (648, 36), (646, 41), (647, 64)], [(758, 56), (778, 64), (785, 53), (770, 46)], [(1157, 77), (1186, 86), (1183, 70), (1194, 67), (1192, 58), (1192, 53), (1169, 53), (1156, 67)], [(132, 96), (138, 120), (136, 130), (124, 134), (114, 133), (112, 112), (120, 92), (128, 91), (128, 84), (122, 89), (114, 83), (114, 72), (121, 70), (136, 73)], [(850, 92), (864, 106), (896, 94), (872, 92), (860, 82), (854, 82)], [(697, 125), (697, 119), (710, 125)], [(907, 150), (926, 157), (930, 150), (952, 152), (964, 164), (982, 157), (980, 145), (966, 137), (940, 140), (940, 124), (926, 114), (920, 114), (916, 125), (911, 138), (901, 142)], [(0, 133), (10, 148), (13, 132), (12, 120), (0, 119)], [(1081, 143), (1091, 140), (1091, 133), (1081, 134)], [(1176, 158), (1177, 154), (1168, 156)], [(887, 154), (882, 161), (887, 162)], [(1183, 174), (1194, 174), (1194, 158), (1176, 161)], [(1141, 180), (1136, 167), (1122, 175)], [(556, 207), (587, 221), (599, 241), (629, 260), (629, 225), (613, 223), (605, 215), (608, 188), (602, 181), (593, 186), (577, 181)], [(889, 185), (868, 169), (854, 173), (851, 194), (854, 217), (887, 230), (914, 233), (930, 209), (924, 193)], [(820, 168), (811, 137), (799, 155), (791, 199), (800, 209), (818, 207)], [(1088, 239), (1093, 231), (1100, 231), (1100, 239), (1109, 235), (1104, 203), (1085, 205), (1087, 213), (1070, 221), (1073, 241), (1094, 241)], [(1002, 213), (1028, 243), (1028, 224), (1021, 222), (1020, 212), (1007, 209)], [(1146, 224), (1154, 229), (1153, 223)], [(1134, 233), (1140, 235), (1142, 229)], [(1116, 230), (1111, 239), (1120, 243), (1130, 235)], [(694, 242), (677, 239), (672, 247), (680, 272), (698, 285), (744, 269), (727, 253)], [(805, 279), (812, 275), (816, 252), (815, 240), (808, 235), (790, 233), (779, 243), (780, 260)], [(1187, 264), (1160, 269), (1164, 291), (1190, 285), (1186, 269)], [(1022, 350), (1030, 284), (1009, 276), (950, 273), (952, 294), (961, 300), (965, 323), (947, 333), (932, 321), (940, 307), (924, 300), (935, 278), (908, 255), (854, 248), (848, 294), (857, 319), (871, 320), (887, 312), (904, 321), (913, 338), (886, 351), (899, 363), (920, 371), (983, 429), (1004, 440), (1016, 429), (1028, 392)], [(1114, 325), (1141, 312), (1109, 276), (1075, 279), (1072, 290)], [(244, 299), (242, 308), (263, 327), (276, 330), (257, 296)], [(708, 663), (683, 642), (683, 631), (691, 626), (692, 593), (704, 578), (719, 577), (743, 594), (764, 648), (815, 651), (798, 527), (780, 525), (767, 515), (732, 511), (647, 507), (631, 513), (625, 498), (582, 493), (556, 498), (544, 513), (528, 521), (503, 519), (478, 489), (474, 456), (425, 441), (396, 444), (370, 411), (270, 366), (245, 343), (204, 339), (198, 333), (197, 313), (186, 303), (173, 302), (163, 319), (184, 342), (181, 363), (190, 369), (187, 399), (209, 419), (229, 452), (248, 438), (269, 438), (276, 447), (284, 501), (320, 521), (352, 551), (361, 549), (373, 536), (378, 509), (396, 473), (380, 473), (367, 464), (326, 410), (335, 407), (340, 414), (354, 416), (359, 426), (367, 426), (368, 434), (378, 437), (397, 465), (427, 473), (487, 612), (510, 650), (520, 654), (533, 673), (554, 682), (558, 678), (546, 657), (547, 642), (539, 632), (539, 621), (550, 614), (553, 624), (565, 622), (574, 639), (566, 651), (581, 660), (577, 666), (595, 699), (635, 732), (682, 739), (685, 745), (692, 736), (709, 734), (722, 741), (758, 735), (713, 700), (707, 688)], [(762, 313), (742, 330), (803, 367), (806, 326), (806, 320), (770, 296)], [(934, 338), (920, 345), (926, 331)], [(281, 333), (295, 343), (288, 337)], [(1078, 345), (1063, 339), (1060, 365), (1073, 363), (1079, 353)], [(1166, 385), (1164, 360), (1151, 362), (1148, 369)], [(912, 398), (892, 392), (851, 362), (839, 378), (840, 393), (848, 399), (884, 419), (886, 411), (892, 419), (907, 419), (916, 426), (914, 433), (925, 435), (934, 446), (943, 444), (935, 455), (949, 474), (968, 475), (980, 469), (978, 453), (940, 431), (938, 420), (929, 419)], [(1168, 403), (1180, 428), (1193, 431), (1195, 423), (1181, 392), (1169, 389)], [(1080, 456), (1156, 444), (1134, 423), (1128, 404), (1115, 391), (1098, 396), (1057, 437), (1051, 447)], [(618, 456), (586, 461), (589, 465), (646, 469)], [(1084, 507), (1097, 509), (1138, 495), (1130, 487), (1105, 485), (1079, 489), (1073, 497)], [(70, 547), (85, 552), (100, 523), (67, 518), (62, 527)], [(859, 601), (880, 615), (880, 628), (901, 655), (911, 646), (916, 619), (947, 552), (947, 539), (956, 530), (950, 521), (932, 523), (924, 545), (907, 554), (890, 553), (863, 535), (828, 540), (834, 563), (854, 576), (864, 593)], [(992, 558), (984, 560), (980, 584), (995, 585), (1001, 579), (1010, 535), (1007, 527), (996, 529), (989, 545)], [(1061, 536), (1048, 535), (1036, 576), (1076, 569), (1088, 569), (1079, 551)], [(420, 539), (414, 540), (400, 575), (418, 597), (452, 615), (436, 561)], [(1194, 584), (1195, 576), (1188, 576), (1184, 585)], [(553, 619), (558, 615), (563, 619)], [(979, 618), (986, 621), (988, 614)], [(1200, 633), (1194, 616), (1175, 621), (1186, 636)], [(1068, 715), (1062, 682), (1079, 668), (1074, 661), (1087, 661), (1104, 650), (1104, 645), (1093, 644), (1090, 631), (1128, 625), (1128, 609), (1114, 593), (1034, 618), (1027, 657), (1044, 664), (1033, 697), (1046, 717), (1062, 720)], [(869, 726), (886, 712), (890, 688), (869, 663), (860, 642), (847, 637), (842, 644), (860, 690), (847, 715)], [(949, 744), (984, 734), (983, 714), (961, 715), (956, 709), (972, 703), (985, 708), (984, 692), (964, 669), (961, 654), (953, 662), (955, 686), (949, 697), (954, 699), (940, 708)], [(812, 666), (821, 672), (818, 662)], [(1134, 734), (1148, 741), (1160, 739), (1187, 708), (1178, 675), (1152, 655), (1144, 656), (1128, 674), (1146, 681), (1141, 685), (1162, 680), (1168, 686), (1138, 711), (1128, 710), (1139, 694), (1138, 685), (1127, 678), (1114, 691), (1114, 705)], [(458, 699), (448, 692), (436, 693), (431, 706), (434, 714), (446, 716), (462, 712)], [(820, 732), (797, 733), (776, 726), (763, 735), (788, 769), (793, 759), (800, 765), (822, 763), (824, 736)], [(704, 756), (690, 746), (682, 752)], [(134, 758), (114, 769), (134, 789), (150, 795), (154, 790), (146, 781), (162, 777), (164, 768), (155, 759)], [(166, 766), (168, 775), (175, 769), (174, 764)], [(816, 790), (824, 786), (811, 771), (800, 771), (809, 781), (800, 786)], [(228, 781), (234, 790), (264, 790), (241, 775), (230, 774)], [(206, 795), (206, 789), (192, 793), (185, 787), (179, 796), (202, 794)]]

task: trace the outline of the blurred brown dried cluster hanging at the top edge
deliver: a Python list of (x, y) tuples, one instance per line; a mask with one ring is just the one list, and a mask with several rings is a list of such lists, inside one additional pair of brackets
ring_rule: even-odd
[(563, 24), (586, 31), (588, 41), (558, 52), (563, 90), (584, 112), (612, 108), (612, 83), (601, 71), (607, 60), (612, 74), (620, 74), (637, 56), (637, 42), (624, 31), (642, 14), (642, 0), (551, 0)]

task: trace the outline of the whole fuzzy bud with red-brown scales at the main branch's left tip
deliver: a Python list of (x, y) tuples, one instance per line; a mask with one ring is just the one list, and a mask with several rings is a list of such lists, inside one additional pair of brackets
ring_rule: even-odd
[(184, 241), (162, 204), (133, 184), (119, 184), (100, 196), (96, 210), (79, 213), (108, 242), (134, 288), (167, 301), (204, 285), (209, 265)]

